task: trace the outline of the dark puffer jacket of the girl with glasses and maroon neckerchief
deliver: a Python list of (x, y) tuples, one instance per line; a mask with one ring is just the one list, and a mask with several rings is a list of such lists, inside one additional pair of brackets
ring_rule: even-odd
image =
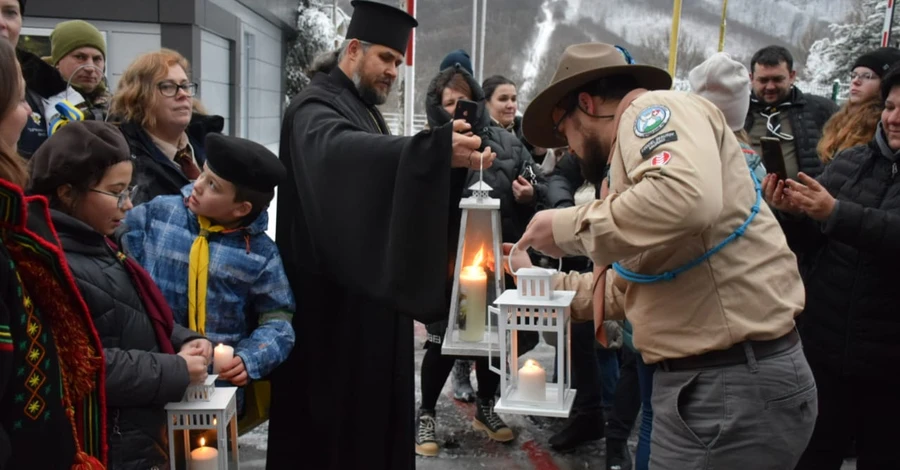
[[(159, 352), (144, 304), (104, 237), (51, 210), (66, 259), (91, 312), (106, 357), (109, 470), (168, 468), (166, 403), (190, 382), (184, 359)], [(200, 338), (175, 325), (172, 345)]]

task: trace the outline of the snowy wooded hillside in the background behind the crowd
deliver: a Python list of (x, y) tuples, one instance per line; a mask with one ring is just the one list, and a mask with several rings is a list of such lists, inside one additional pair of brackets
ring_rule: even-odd
[[(382, 0), (384, 1), (384, 0)], [(603, 41), (628, 48), (635, 59), (665, 67), (671, 0), (487, 0), (484, 77), (506, 75), (522, 97), (540, 89), (570, 44)], [(806, 61), (812, 43), (830, 32), (858, 0), (729, 0), (725, 49), (749, 62), (757, 49), (779, 44)], [(330, 2), (329, 2), (330, 3)], [(399, 0), (385, 3), (399, 5)], [(679, 75), (714, 52), (719, 41), (721, 0), (685, 1), (679, 40)], [(351, 12), (349, 0), (338, 5)], [(481, 0), (479, 0), (479, 9)], [(418, 0), (416, 103), (423, 112), (427, 86), (443, 56), (472, 48), (470, 0)], [(390, 103), (387, 105), (390, 106)]]

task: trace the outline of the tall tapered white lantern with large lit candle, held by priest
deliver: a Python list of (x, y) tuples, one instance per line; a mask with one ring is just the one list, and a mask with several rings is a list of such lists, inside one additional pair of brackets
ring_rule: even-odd
[(473, 184), (472, 195), (459, 202), (462, 220), (453, 272), (450, 321), (441, 353), (487, 356), (497, 349), (496, 319), (488, 306), (503, 292), (500, 251), (500, 200), (490, 197), (484, 181)]

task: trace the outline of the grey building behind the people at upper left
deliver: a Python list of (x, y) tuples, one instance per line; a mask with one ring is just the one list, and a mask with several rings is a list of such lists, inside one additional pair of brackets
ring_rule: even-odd
[(82, 19), (106, 37), (115, 90), (141, 53), (174, 49), (191, 63), (198, 98), (225, 132), (275, 147), (284, 103), (286, 45), (297, 0), (41, 0), (28, 2), (20, 47), (49, 55), (57, 23)]

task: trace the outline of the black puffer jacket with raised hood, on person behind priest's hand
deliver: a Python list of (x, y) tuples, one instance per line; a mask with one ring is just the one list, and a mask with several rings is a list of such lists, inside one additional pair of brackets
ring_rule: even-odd
[[(435, 90), (437, 84), (446, 81), (448, 76), (461, 73), (465, 76), (474, 95), (472, 101), (478, 103), (478, 125), (473, 132), (481, 137), (482, 149), (490, 147), (497, 154), (494, 164), (484, 171), (484, 182), (490, 186), (491, 197), (500, 200), (500, 219), (503, 241), (514, 243), (525, 233), (525, 227), (531, 221), (535, 210), (541, 209), (540, 203), (546, 199), (547, 184), (541, 168), (534, 162), (525, 145), (515, 135), (505, 129), (491, 125), (490, 113), (484, 107), (484, 92), (478, 82), (461, 67), (448, 68), (439, 73), (428, 87), (425, 101), (425, 112), (431, 128), (442, 126), (452, 116), (441, 106), (441, 91)], [(530, 168), (535, 175), (534, 199), (528, 204), (516, 202), (512, 191), (512, 182)], [(466, 189), (478, 182), (479, 172), (470, 171), (466, 181)], [(468, 191), (466, 191), (468, 194)]]

